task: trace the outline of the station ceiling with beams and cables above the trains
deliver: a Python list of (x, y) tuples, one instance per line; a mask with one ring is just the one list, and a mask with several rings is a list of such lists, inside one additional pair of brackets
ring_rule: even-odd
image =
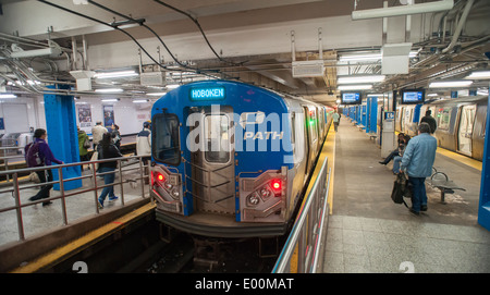
[[(407, 9), (409, 0), (385, 2), (385, 9)], [(432, 2), (448, 1), (417, 0), (413, 5)], [(381, 48), (387, 45), (411, 44), (408, 70), (385, 74), (368, 91), (427, 87), (487, 69), (490, 0), (451, 2), (450, 10), (388, 16), (383, 25), (383, 17), (353, 20), (355, 11), (383, 9), (381, 0), (0, 0), (0, 87), (10, 81), (8, 90), (35, 93), (45, 82), (74, 83), (74, 70), (134, 69), (164, 71), (163, 84), (232, 78), (333, 106), (339, 77), (383, 74)], [(62, 53), (11, 57), (49, 46)], [(379, 58), (343, 61), (359, 53)], [(323, 61), (320, 76), (293, 76), (293, 61), (305, 65), (318, 60)], [(29, 77), (41, 84), (12, 84)], [(155, 89), (142, 86), (139, 76), (95, 81), (93, 86), (108, 84), (123, 87), (127, 96)], [(488, 81), (471, 87), (488, 89)]]

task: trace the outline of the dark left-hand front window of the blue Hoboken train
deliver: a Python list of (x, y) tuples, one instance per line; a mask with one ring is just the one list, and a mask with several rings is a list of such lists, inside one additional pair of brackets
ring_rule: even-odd
[(162, 163), (179, 165), (181, 163), (179, 118), (175, 114), (161, 113), (156, 114), (151, 123), (154, 158)]

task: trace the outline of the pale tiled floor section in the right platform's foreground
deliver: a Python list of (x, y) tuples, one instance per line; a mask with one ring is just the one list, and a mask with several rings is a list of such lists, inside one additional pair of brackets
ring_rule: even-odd
[[(324, 272), (490, 272), (490, 232), (465, 225), (331, 216)], [(401, 269), (402, 267), (402, 269)]]

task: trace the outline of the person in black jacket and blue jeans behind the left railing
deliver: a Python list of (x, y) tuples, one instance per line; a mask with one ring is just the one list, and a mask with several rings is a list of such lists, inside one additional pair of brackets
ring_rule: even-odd
[[(100, 140), (97, 151), (99, 153), (99, 160), (123, 157), (121, 155), (121, 152), (119, 151), (119, 149), (112, 143), (112, 136), (110, 133), (103, 134), (102, 140)], [(103, 183), (106, 185), (112, 184), (114, 182), (115, 175), (114, 175), (113, 171), (115, 170), (117, 167), (118, 167), (117, 161), (99, 163), (99, 169), (97, 172), (99, 172), (99, 173), (112, 172), (112, 173), (107, 173), (107, 174), (102, 175)], [(106, 197), (108, 195), (109, 195), (110, 201), (118, 199), (118, 197), (114, 195), (114, 186), (113, 185), (106, 186), (102, 189), (102, 193), (99, 196), (99, 208), (103, 208), (103, 201), (106, 200)]]

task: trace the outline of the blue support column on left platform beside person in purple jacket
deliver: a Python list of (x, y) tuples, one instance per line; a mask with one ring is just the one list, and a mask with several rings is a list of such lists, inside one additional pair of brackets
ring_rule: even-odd
[[(68, 85), (51, 85), (51, 89), (70, 89)], [(75, 100), (73, 96), (45, 93), (46, 126), (48, 144), (54, 158), (64, 163), (79, 162), (78, 133), (76, 130)], [(53, 180), (58, 181), (58, 170), (52, 170)], [(63, 180), (79, 177), (79, 167), (63, 168)], [(82, 180), (64, 182), (64, 190), (82, 187)], [(59, 190), (60, 185), (54, 184)]]

